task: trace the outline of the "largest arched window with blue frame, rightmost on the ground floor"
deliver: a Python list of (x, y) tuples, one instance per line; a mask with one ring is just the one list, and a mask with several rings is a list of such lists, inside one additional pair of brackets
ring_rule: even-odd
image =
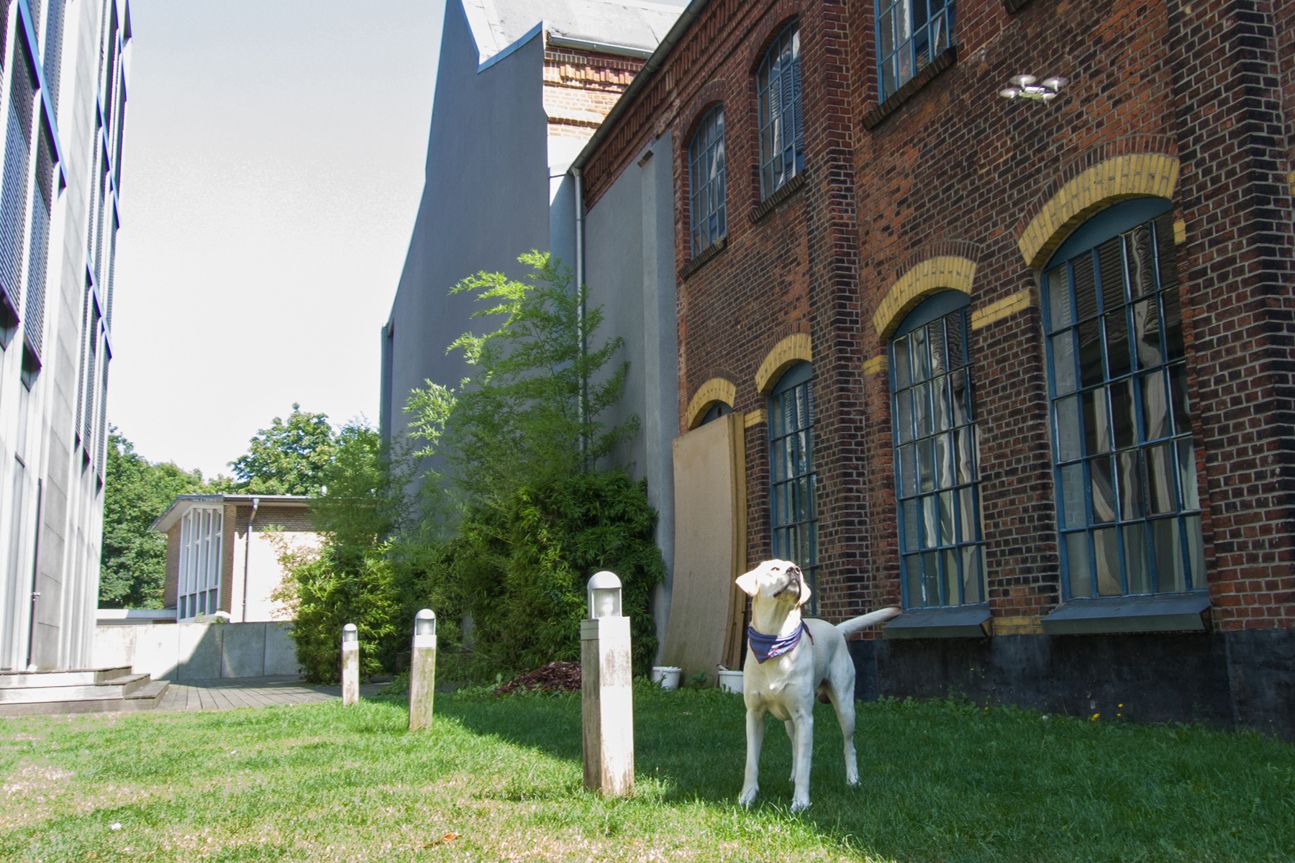
[(1112, 206), (1044, 267), (1067, 599), (1206, 586), (1168, 210), (1163, 198)]

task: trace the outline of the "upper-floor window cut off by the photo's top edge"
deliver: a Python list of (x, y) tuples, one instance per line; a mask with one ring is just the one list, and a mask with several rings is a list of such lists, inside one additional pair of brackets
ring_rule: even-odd
[[(884, 102), (899, 89), (913, 80), (936, 57), (952, 48), (954, 25), (957, 23), (957, 0), (877, 0), (874, 13), (874, 43), (877, 51), (877, 101)], [(925, 12), (921, 19), (918, 10)], [(903, 16), (903, 22), (900, 22)], [(899, 26), (908, 29), (901, 38)], [(931, 39), (934, 27), (943, 27), (943, 41), (939, 32)], [(888, 36), (888, 39), (887, 39)], [(887, 66), (890, 75), (887, 75)]]

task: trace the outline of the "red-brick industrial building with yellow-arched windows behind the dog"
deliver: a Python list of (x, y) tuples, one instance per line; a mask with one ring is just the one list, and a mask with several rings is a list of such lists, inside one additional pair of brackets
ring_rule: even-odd
[(574, 166), (708, 465), (676, 592), (903, 604), (865, 697), (1295, 733), (1292, 122), (1273, 0), (690, 3)]

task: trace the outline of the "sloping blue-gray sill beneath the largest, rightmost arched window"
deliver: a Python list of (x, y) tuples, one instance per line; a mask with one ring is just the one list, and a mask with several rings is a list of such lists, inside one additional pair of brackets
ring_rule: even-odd
[(1048, 635), (1204, 632), (1210, 595), (1164, 593), (1070, 600), (1042, 619)]

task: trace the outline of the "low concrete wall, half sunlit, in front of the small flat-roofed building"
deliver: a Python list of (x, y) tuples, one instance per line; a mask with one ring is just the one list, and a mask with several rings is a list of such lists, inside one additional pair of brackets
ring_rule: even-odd
[(100, 623), (95, 665), (175, 682), (299, 674), (291, 623)]

